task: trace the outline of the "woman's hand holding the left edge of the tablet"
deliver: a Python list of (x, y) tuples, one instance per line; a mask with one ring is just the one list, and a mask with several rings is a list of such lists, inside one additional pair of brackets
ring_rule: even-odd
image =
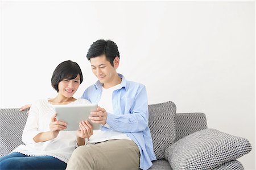
[(51, 123), (49, 124), (51, 138), (54, 139), (59, 134), (60, 130), (67, 128), (67, 123), (57, 121), (56, 113), (51, 117)]

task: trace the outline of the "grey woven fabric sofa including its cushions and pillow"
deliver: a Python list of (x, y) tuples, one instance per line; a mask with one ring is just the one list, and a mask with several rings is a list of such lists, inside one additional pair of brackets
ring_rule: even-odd
[[(22, 144), (27, 110), (0, 109), (0, 157)], [(157, 160), (152, 169), (243, 169), (237, 161), (250, 142), (207, 128), (204, 113), (176, 113), (174, 102), (148, 105), (148, 126)]]

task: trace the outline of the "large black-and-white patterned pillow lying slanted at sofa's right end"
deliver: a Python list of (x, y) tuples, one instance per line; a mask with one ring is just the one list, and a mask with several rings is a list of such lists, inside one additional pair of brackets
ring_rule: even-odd
[(165, 158), (173, 169), (213, 169), (250, 151), (247, 139), (207, 128), (172, 144)]

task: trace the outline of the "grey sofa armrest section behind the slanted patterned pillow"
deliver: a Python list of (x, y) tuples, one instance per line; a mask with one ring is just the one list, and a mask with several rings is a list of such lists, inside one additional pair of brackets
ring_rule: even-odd
[(177, 113), (175, 115), (175, 142), (193, 132), (207, 128), (207, 118), (204, 113)]

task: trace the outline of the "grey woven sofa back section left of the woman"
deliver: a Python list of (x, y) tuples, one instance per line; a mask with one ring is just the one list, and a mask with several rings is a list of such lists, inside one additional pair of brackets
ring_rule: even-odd
[(22, 144), (27, 115), (27, 111), (19, 109), (0, 109), (0, 157)]

